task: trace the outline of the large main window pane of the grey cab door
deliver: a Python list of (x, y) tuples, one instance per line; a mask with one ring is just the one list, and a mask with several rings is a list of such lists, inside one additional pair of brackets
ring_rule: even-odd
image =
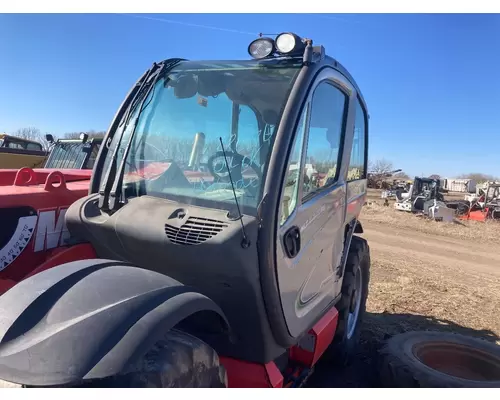
[(330, 83), (314, 91), (307, 140), (303, 199), (337, 178), (337, 163), (344, 129), (347, 96)]

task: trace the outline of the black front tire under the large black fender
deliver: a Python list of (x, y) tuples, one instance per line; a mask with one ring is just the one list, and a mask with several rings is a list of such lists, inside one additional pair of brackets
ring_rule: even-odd
[[(71, 387), (100, 388), (223, 388), (225, 368), (215, 350), (200, 339), (171, 330), (126, 374), (84, 381)], [(0, 388), (23, 387), (0, 380)]]

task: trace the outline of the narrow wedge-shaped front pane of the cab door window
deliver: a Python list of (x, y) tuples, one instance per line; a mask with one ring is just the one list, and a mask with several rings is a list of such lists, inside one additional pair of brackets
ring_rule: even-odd
[[(306, 124), (307, 108), (304, 108), (302, 116), (300, 117), (299, 125), (297, 126), (297, 133), (295, 135), (292, 152), (288, 160), (287, 172), (285, 175), (285, 184), (283, 188), (283, 195), (281, 198), (281, 218), (280, 225), (283, 225), (290, 214), (297, 206), (297, 197), (299, 191), (299, 177), (300, 177), (300, 161), (302, 158), (302, 145), (304, 143), (304, 128)], [(306, 176), (304, 176), (306, 179)]]

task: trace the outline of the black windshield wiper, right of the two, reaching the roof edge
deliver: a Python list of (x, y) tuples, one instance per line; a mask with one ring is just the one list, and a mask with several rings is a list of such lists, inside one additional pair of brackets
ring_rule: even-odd
[[(184, 60), (179, 59), (179, 58), (173, 58), (173, 59), (166, 60), (163, 62), (163, 64), (161, 64), (161, 66), (159, 67), (160, 69), (155, 74), (155, 76), (152, 76), (152, 74), (151, 74), (151, 76), (148, 77), (148, 80), (150, 81), (150, 85), (146, 89), (146, 91), (142, 97), (142, 101), (139, 104), (139, 111), (137, 113), (137, 116), (134, 118), (132, 132), (130, 133), (130, 137), (129, 137), (127, 144), (125, 146), (122, 160), (120, 163), (120, 167), (116, 171), (116, 177), (114, 179), (113, 186), (109, 192), (108, 210), (110, 210), (110, 211), (116, 211), (119, 208), (119, 204), (122, 201), (122, 197), (123, 197), (122, 186), (123, 186), (123, 175), (124, 175), (124, 170), (125, 170), (125, 164), (126, 164), (126, 160), (128, 157), (128, 153), (130, 151), (130, 147), (132, 145), (132, 141), (134, 139), (135, 130), (137, 128), (137, 121), (139, 120), (139, 117), (141, 116), (141, 113), (144, 110), (145, 106), (147, 106), (149, 104), (149, 102), (146, 104), (145, 104), (145, 102), (148, 99), (149, 94), (151, 93), (151, 90), (154, 90), (156, 82), (158, 82), (158, 80), (165, 73), (167, 73), (169, 70), (171, 70), (173, 67), (175, 67), (181, 61), (184, 61)], [(126, 126), (124, 127), (124, 129), (126, 129)]]

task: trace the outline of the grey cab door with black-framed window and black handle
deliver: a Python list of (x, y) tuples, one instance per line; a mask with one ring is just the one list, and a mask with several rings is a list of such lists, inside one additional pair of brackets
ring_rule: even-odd
[(350, 156), (344, 137), (353, 130), (355, 98), (355, 89), (343, 75), (324, 69), (312, 85), (295, 132), (276, 243), (281, 303), (294, 337), (314, 324), (340, 294), (335, 271), (343, 250), (345, 165)]

